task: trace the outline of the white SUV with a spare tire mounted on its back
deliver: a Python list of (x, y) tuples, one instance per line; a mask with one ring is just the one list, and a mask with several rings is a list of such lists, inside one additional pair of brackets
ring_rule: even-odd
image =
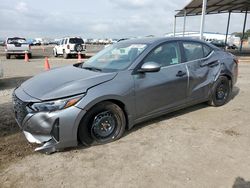
[(86, 45), (80, 37), (65, 37), (59, 41), (59, 43), (53, 48), (53, 54), (55, 57), (63, 55), (67, 59), (71, 55), (86, 54)]

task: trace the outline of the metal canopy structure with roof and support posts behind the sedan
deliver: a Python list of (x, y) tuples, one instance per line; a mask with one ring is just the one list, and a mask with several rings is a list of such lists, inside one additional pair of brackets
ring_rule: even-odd
[(244, 25), (243, 25), (243, 36), (241, 40), (240, 50), (242, 50), (242, 43), (245, 34), (247, 14), (250, 11), (250, 0), (192, 0), (182, 10), (178, 10), (178, 13), (174, 17), (174, 36), (176, 32), (176, 18), (184, 17), (183, 24), (183, 36), (186, 27), (186, 16), (197, 16), (201, 15), (201, 26), (200, 26), (200, 38), (203, 39), (204, 23), (206, 14), (220, 14), (228, 13), (228, 22), (226, 30), (225, 43), (227, 43), (227, 36), (230, 25), (231, 13), (245, 13)]

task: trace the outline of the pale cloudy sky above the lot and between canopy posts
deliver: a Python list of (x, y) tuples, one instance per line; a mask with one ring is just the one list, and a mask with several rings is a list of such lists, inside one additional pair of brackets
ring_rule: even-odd
[[(175, 10), (190, 0), (1, 0), (0, 38), (81, 36), (123, 38), (173, 31)], [(228, 14), (206, 16), (206, 32), (226, 32)], [(248, 20), (250, 19), (250, 16)], [(232, 14), (229, 33), (242, 32), (243, 14)], [(187, 17), (186, 30), (199, 31), (200, 16)], [(177, 18), (177, 31), (183, 18)], [(250, 21), (247, 21), (247, 29)]]

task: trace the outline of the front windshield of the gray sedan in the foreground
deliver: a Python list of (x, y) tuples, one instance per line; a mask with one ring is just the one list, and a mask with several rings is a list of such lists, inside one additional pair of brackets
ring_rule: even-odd
[(105, 72), (124, 70), (132, 64), (146, 47), (146, 44), (117, 43), (87, 60), (82, 65), (82, 68)]

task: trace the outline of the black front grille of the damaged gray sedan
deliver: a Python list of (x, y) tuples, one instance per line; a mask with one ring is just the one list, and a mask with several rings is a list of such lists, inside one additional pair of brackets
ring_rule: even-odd
[(21, 101), (15, 94), (13, 94), (13, 105), (15, 117), (21, 126), (25, 116), (28, 114), (28, 111), (26, 110), (27, 103)]

